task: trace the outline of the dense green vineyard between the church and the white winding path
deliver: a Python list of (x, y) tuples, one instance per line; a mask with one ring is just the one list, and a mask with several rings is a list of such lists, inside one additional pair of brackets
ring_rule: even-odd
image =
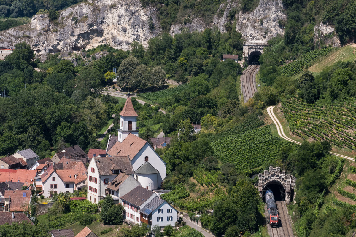
[(281, 147), (289, 142), (273, 136), (271, 128), (262, 125), (263, 121), (249, 120), (235, 129), (212, 136), (215, 156), (223, 163), (234, 163), (238, 170), (273, 162)]

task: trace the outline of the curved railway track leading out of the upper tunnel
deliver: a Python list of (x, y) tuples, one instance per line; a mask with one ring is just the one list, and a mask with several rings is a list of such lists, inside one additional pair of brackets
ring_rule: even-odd
[(242, 72), (240, 80), (245, 103), (253, 97), (254, 93), (257, 92), (256, 74), (259, 68), (259, 65), (250, 65), (245, 69), (244, 72)]

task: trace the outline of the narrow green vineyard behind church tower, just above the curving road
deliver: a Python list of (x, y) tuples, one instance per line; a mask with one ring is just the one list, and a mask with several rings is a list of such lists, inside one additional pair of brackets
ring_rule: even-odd
[(141, 93), (137, 96), (142, 97), (143, 99), (146, 99), (154, 104), (161, 105), (163, 102), (174, 98), (176, 94), (183, 94), (183, 92), (188, 89), (188, 86), (189, 84), (183, 84), (177, 87), (169, 88), (167, 90)]

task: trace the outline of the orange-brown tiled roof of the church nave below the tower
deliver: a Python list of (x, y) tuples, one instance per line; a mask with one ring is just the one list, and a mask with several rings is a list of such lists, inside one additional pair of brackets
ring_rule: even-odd
[(130, 160), (137, 155), (147, 141), (130, 133), (124, 141), (116, 142), (115, 145), (108, 151), (111, 156), (130, 156)]

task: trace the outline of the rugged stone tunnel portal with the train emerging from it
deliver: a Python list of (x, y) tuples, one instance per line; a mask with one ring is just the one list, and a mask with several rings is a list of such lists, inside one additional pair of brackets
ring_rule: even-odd
[(295, 177), (281, 171), (281, 167), (269, 167), (269, 170), (258, 174), (258, 192), (263, 199), (267, 190), (272, 190), (276, 201), (289, 204), (293, 201)]

